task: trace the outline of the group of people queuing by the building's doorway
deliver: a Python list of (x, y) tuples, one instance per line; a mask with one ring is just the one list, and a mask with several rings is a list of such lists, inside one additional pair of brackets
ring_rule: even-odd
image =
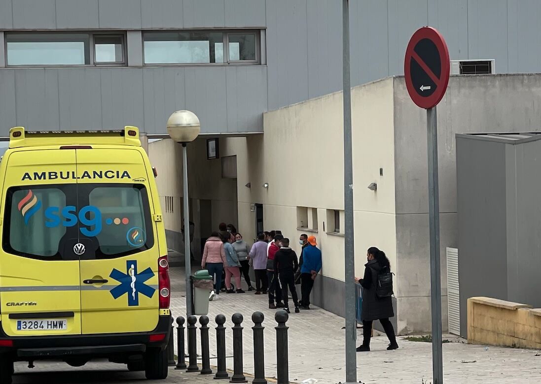
[[(252, 247), (236, 231), (234, 225), (221, 223), (219, 232), (213, 232), (207, 239), (201, 268), (206, 268), (214, 278), (214, 291), (209, 300), (216, 300), (222, 288), (222, 273), (225, 271), (227, 293), (245, 293), (241, 287), (241, 273), (248, 285), (248, 291), (256, 295), (268, 294), (269, 308), (283, 308), (289, 311), (289, 293), (293, 298), (295, 313), (310, 309), (310, 293), (314, 280), (321, 271), (321, 251), (314, 236), (302, 234), (300, 257), (292, 250), (290, 240), (281, 231), (263, 232), (258, 235)], [(249, 270), (254, 269), (255, 288), (252, 286)], [(232, 284), (235, 279), (236, 289)], [(301, 284), (301, 300), (295, 289)], [(289, 291), (289, 292), (288, 292)]]

